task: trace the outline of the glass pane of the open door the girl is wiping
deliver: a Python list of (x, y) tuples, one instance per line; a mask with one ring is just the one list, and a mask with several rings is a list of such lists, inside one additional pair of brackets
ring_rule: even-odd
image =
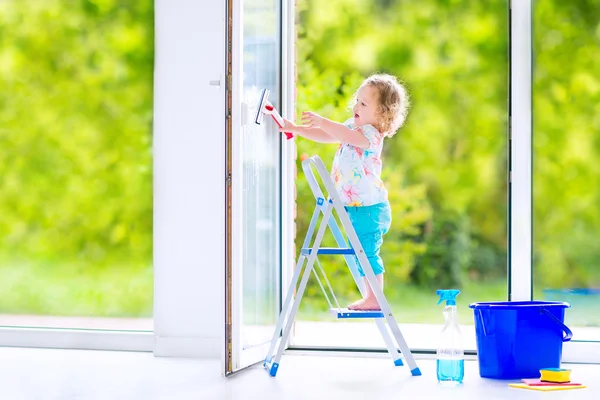
[(242, 345), (268, 342), (279, 307), (280, 137), (267, 118), (254, 122), (262, 89), (279, 102), (279, 6), (275, 0), (244, 2), (243, 101), (248, 115), (241, 138), (243, 158)]

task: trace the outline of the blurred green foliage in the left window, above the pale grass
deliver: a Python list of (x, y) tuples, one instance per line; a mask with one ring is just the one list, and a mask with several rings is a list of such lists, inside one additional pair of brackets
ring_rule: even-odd
[(153, 46), (151, 1), (0, 2), (3, 253), (150, 265)]

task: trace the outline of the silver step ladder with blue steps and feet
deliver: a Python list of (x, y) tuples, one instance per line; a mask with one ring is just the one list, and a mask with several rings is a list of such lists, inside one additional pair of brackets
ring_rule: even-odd
[[(367, 256), (363, 251), (362, 245), (360, 244), (358, 236), (356, 235), (356, 231), (354, 230), (352, 223), (350, 222), (350, 217), (348, 216), (348, 213), (346, 212), (346, 209), (344, 208), (344, 205), (337, 194), (333, 181), (329, 176), (327, 168), (325, 168), (325, 164), (323, 164), (323, 161), (321, 161), (319, 156), (313, 156), (307, 158), (302, 162), (302, 169), (304, 170), (304, 174), (306, 176), (306, 179), (308, 180), (308, 184), (315, 196), (316, 207), (310, 220), (308, 231), (306, 233), (306, 238), (304, 239), (304, 244), (302, 245), (302, 249), (300, 250), (300, 256), (298, 257), (298, 262), (294, 270), (294, 275), (292, 277), (292, 281), (290, 283), (285, 301), (283, 303), (281, 314), (277, 319), (275, 332), (273, 333), (271, 345), (269, 346), (269, 352), (267, 353), (263, 366), (271, 376), (275, 376), (277, 374), (277, 370), (279, 369), (279, 363), (281, 361), (281, 356), (283, 355), (283, 350), (286, 347), (290, 330), (292, 328), (292, 323), (294, 322), (294, 318), (296, 317), (296, 313), (298, 312), (298, 307), (300, 306), (302, 295), (304, 294), (304, 290), (306, 289), (308, 278), (310, 277), (311, 272), (314, 272), (314, 275), (317, 278), (317, 282), (319, 283), (321, 290), (325, 294), (327, 303), (329, 304), (330, 314), (333, 317), (337, 319), (373, 318), (375, 320), (375, 323), (377, 324), (377, 327), (379, 328), (381, 336), (383, 337), (388, 352), (392, 356), (394, 365), (404, 365), (402, 362), (402, 358), (400, 358), (400, 354), (398, 353), (398, 350), (396, 348), (396, 344), (392, 341), (392, 337), (390, 336), (390, 332), (388, 331), (389, 327), (393, 334), (393, 337), (396, 339), (396, 343), (400, 348), (400, 351), (404, 355), (404, 359), (408, 363), (411, 374), (413, 376), (421, 375), (421, 371), (417, 367), (415, 359), (412, 353), (410, 352), (410, 349), (408, 348), (404, 337), (402, 336), (402, 332), (400, 332), (400, 328), (398, 327), (398, 323), (396, 322), (392, 310), (390, 309), (390, 305), (388, 304), (383, 294), (383, 291), (377, 283), (375, 273), (373, 272), (371, 264), (369, 263)], [(315, 174), (313, 173), (313, 169), (317, 171), (321, 184), (324, 186), (328, 197), (325, 197), (325, 195), (323, 194), (323, 191), (321, 190), (321, 185), (318, 183)], [(333, 215), (333, 210), (336, 211), (340, 223), (346, 232), (346, 236), (348, 238), (348, 242), (350, 243), (350, 247), (348, 247), (346, 240), (344, 240), (344, 236), (342, 235), (342, 232), (340, 231), (337, 221)], [(317, 222), (321, 214), (323, 214), (323, 218), (317, 230), (314, 242), (311, 246), (310, 242), (315, 233)], [(327, 226), (329, 226), (331, 232), (333, 233), (338, 247), (320, 247)], [(367, 277), (371, 287), (373, 288), (373, 293), (375, 294), (375, 298), (379, 303), (381, 311), (354, 311), (340, 307), (340, 304), (337, 298), (335, 297), (335, 294), (333, 293), (331, 284), (327, 279), (327, 275), (325, 274), (324, 269), (319, 263), (319, 255), (344, 256), (346, 264), (348, 265), (348, 268), (350, 269), (352, 276), (354, 277), (354, 281), (356, 282), (361, 294), (364, 296), (364, 294), (366, 293), (366, 288), (364, 287), (364, 281), (360, 277), (360, 274), (358, 272), (358, 266), (356, 264), (357, 261), (360, 262), (360, 265), (362, 265), (363, 271), (365, 272), (365, 276)], [(300, 279), (301, 271), (304, 267), (305, 261), (307, 263), (306, 268), (304, 268), (304, 273), (302, 274), (300, 286), (296, 290), (296, 286), (298, 284), (298, 280)], [(314, 268), (315, 263), (317, 268)], [(333, 297), (334, 303), (331, 302), (319, 275), (322, 275), (323, 280), (328, 286), (329, 292)], [(296, 293), (295, 296), (294, 293)], [(385, 324), (385, 322), (387, 322), (387, 325)]]

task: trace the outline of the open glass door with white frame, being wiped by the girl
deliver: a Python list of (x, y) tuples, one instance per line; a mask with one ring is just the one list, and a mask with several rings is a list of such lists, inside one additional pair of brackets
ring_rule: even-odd
[(281, 309), (282, 259), (292, 252), (282, 246), (291, 214), (282, 208), (290, 201), (284, 152), (292, 144), (271, 118), (255, 122), (262, 89), (285, 108), (282, 7), (228, 0), (226, 376), (264, 360)]

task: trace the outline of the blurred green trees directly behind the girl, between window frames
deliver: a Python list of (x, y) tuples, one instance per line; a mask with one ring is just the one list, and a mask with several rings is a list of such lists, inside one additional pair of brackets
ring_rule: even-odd
[[(391, 261), (390, 278), (431, 285), (446, 273), (451, 273), (448, 284), (465, 277), (502, 276), (507, 2), (299, 2), (298, 111), (311, 109), (343, 121), (352, 93), (378, 71), (398, 76), (411, 94), (406, 125), (384, 145), (384, 170), (392, 207), (404, 213), (402, 202), (416, 202), (420, 216), (415, 221), (406, 215), (394, 218), (382, 248), (386, 263)], [(326, 154), (326, 163), (335, 150), (302, 140), (298, 149), (301, 154)], [(302, 182), (300, 174), (300, 228), (308, 218)], [(465, 227), (455, 232), (456, 240), (442, 238), (449, 215), (455, 216), (452, 229)], [(434, 227), (432, 232), (425, 231), (428, 226)], [(300, 229), (299, 238), (302, 233)], [(485, 267), (473, 260), (485, 261)]]

